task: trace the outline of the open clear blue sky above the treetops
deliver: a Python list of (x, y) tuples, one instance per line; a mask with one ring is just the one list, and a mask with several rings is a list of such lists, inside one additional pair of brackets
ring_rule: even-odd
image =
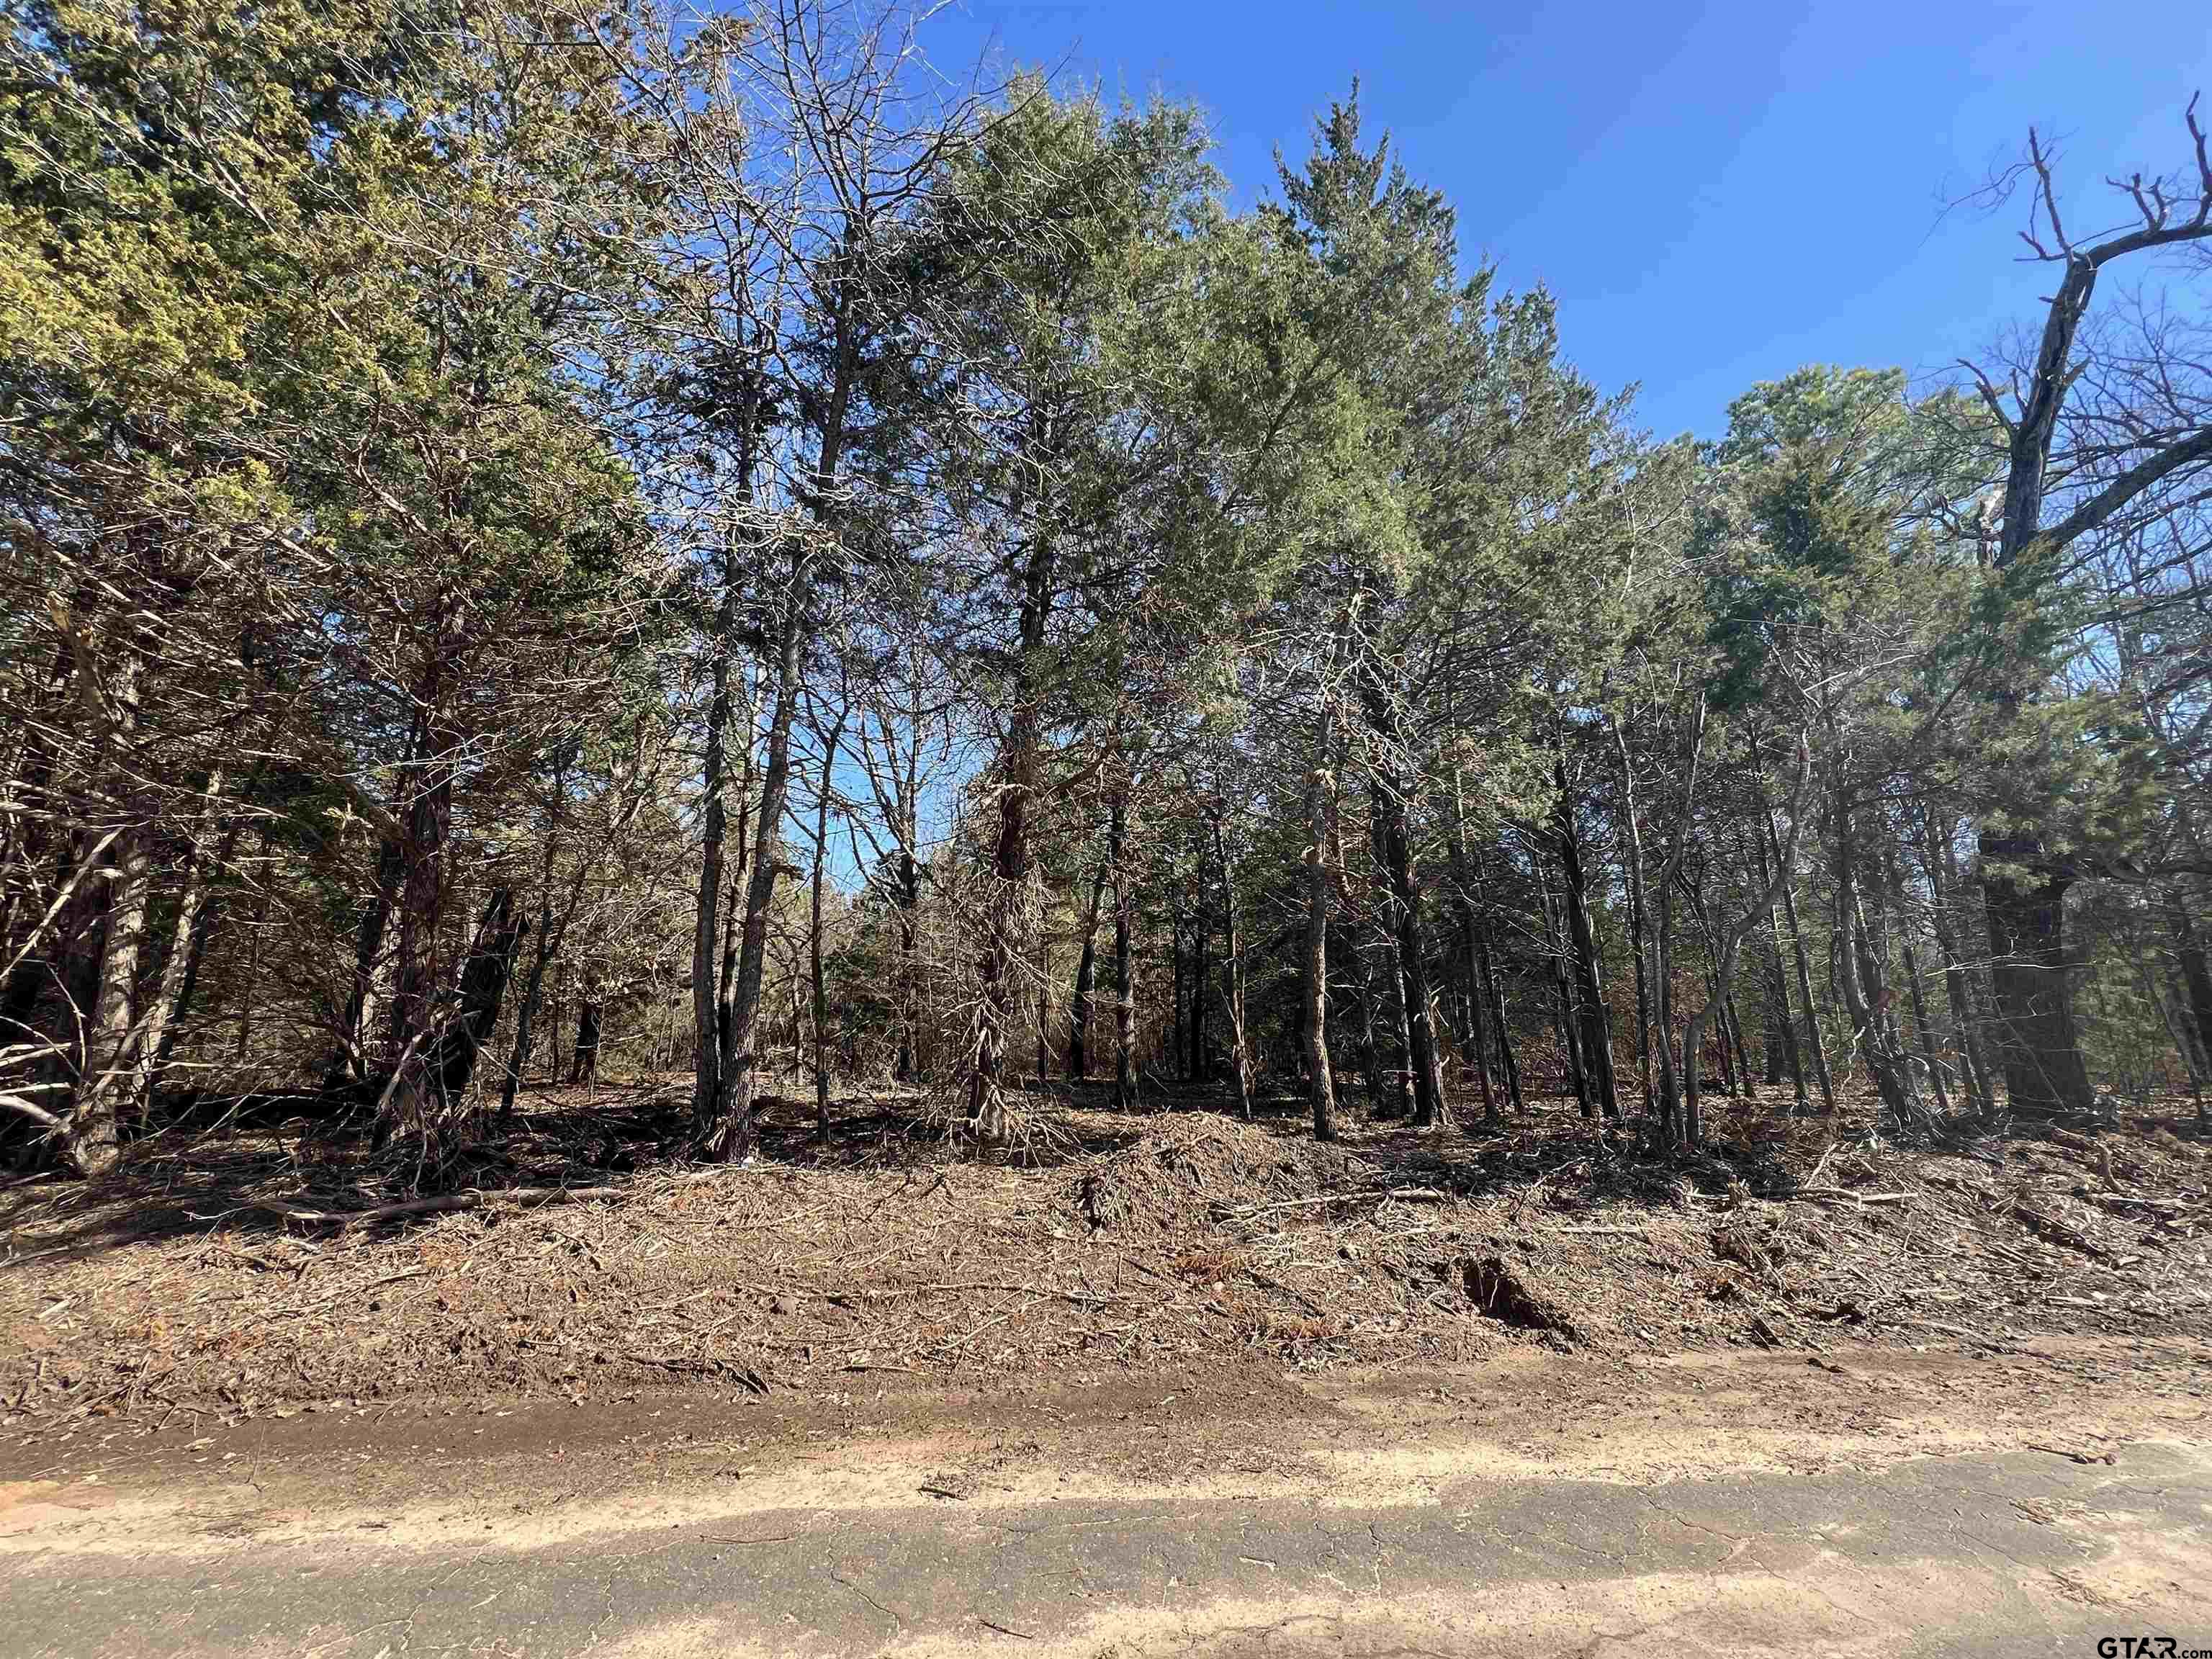
[(1659, 436), (1714, 436), (1732, 396), (1801, 363), (1940, 374), (2028, 316), (2048, 272), (2013, 263), (2020, 210), (1938, 212), (2031, 119), (2084, 226), (2104, 175), (2188, 161), (2190, 91), (2212, 119), (2208, 0), (956, 0), (925, 40), (947, 66), (995, 49), (1203, 104), (1239, 204), (1358, 75), (1369, 131), (1453, 199), (1469, 257), (1548, 285), (1573, 361), (1641, 383)]

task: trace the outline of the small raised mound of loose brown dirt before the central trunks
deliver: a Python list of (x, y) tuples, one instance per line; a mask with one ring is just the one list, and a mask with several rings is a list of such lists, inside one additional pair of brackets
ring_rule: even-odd
[(1183, 1113), (1095, 1159), (1075, 1181), (1075, 1212), (1095, 1230), (1177, 1234), (1214, 1214), (1374, 1186), (1347, 1152), (1212, 1113)]

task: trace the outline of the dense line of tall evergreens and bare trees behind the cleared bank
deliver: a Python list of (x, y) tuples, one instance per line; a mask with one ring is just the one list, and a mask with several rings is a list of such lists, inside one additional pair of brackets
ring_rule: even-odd
[(1659, 442), (1356, 91), (1232, 212), (1197, 111), (914, 29), (9, 7), (0, 1144), (2201, 1097), (2194, 106), (2117, 228), (1991, 181), (2015, 354)]

